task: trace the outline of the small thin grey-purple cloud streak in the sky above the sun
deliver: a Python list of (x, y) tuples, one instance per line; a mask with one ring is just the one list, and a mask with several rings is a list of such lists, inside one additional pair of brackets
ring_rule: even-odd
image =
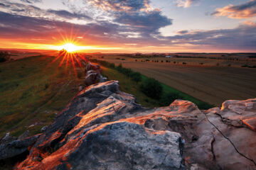
[(85, 14), (80, 14), (80, 13), (70, 13), (69, 11), (65, 10), (48, 10), (48, 13), (54, 13), (57, 16), (63, 17), (63, 18), (68, 18), (68, 19), (73, 19), (73, 18), (78, 18), (78, 19), (86, 19), (86, 20), (91, 20), (90, 16), (86, 16)]

